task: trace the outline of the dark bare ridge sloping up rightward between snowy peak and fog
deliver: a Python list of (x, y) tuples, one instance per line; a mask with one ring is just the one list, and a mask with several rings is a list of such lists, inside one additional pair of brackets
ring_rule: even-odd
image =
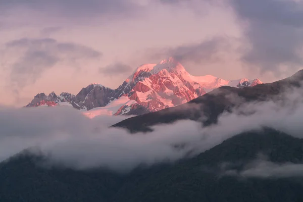
[(303, 70), (300, 70), (291, 77), (273, 83), (245, 88), (222, 86), (192, 99), (186, 104), (125, 119), (113, 125), (113, 127), (127, 128), (131, 132), (146, 132), (151, 130), (150, 126), (185, 119), (202, 120), (203, 124), (208, 126), (217, 123), (219, 115), (225, 111), (231, 111), (234, 107), (249, 102), (272, 99), (281, 92), (289, 90), (290, 87), (300, 87), (302, 81)]

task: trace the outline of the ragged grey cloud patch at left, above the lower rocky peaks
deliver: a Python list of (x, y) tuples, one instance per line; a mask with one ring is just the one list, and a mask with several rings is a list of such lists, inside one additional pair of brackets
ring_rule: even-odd
[(17, 88), (35, 83), (45, 70), (60, 62), (73, 65), (81, 59), (98, 59), (102, 56), (102, 53), (90, 47), (63, 43), (52, 38), (10, 41), (5, 45), (5, 52), (16, 58), (8, 68), (11, 69), (11, 82)]

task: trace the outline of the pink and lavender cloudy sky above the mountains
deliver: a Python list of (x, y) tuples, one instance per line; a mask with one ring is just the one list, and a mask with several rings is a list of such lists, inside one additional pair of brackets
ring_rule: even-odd
[(300, 0), (0, 0), (0, 105), (118, 87), (175, 57), (192, 75), (275, 81), (302, 69)]

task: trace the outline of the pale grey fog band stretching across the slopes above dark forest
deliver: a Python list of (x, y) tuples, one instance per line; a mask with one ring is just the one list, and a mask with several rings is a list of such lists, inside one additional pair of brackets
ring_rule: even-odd
[[(301, 90), (288, 90), (275, 102), (250, 103), (224, 113), (216, 125), (202, 127), (183, 120), (136, 134), (108, 127), (124, 119), (119, 116), (89, 119), (68, 107), (0, 108), (0, 161), (34, 147), (33, 153), (38, 148), (47, 155), (48, 165), (127, 172), (141, 164), (176, 161), (189, 151), (197, 155), (241, 132), (265, 126), (301, 138), (302, 100)], [(180, 144), (184, 146), (174, 146)]]

